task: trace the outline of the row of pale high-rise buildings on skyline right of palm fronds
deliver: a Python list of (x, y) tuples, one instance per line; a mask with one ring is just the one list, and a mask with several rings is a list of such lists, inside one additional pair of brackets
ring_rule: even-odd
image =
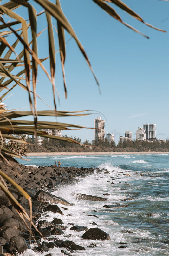
[[(108, 132), (106, 134), (107, 140), (111, 143), (114, 140), (114, 134)], [(102, 120), (101, 117), (94, 119), (94, 141), (98, 142), (99, 140), (105, 139), (105, 120)], [(156, 124), (143, 124), (143, 127), (138, 127), (136, 131), (136, 139), (143, 141), (164, 141), (156, 138)], [(120, 135), (119, 141), (123, 144), (126, 140), (133, 140), (133, 133), (131, 131), (125, 131), (125, 136)]]

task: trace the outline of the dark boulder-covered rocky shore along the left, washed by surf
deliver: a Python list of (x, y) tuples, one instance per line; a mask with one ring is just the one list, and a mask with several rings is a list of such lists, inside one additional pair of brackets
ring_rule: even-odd
[[(57, 204), (62, 204), (63, 209), (67, 205), (71, 205), (62, 197), (57, 197), (51, 194), (52, 190), (65, 184), (74, 184), (79, 181), (79, 177), (85, 177), (94, 173), (93, 168), (73, 168), (73, 167), (55, 167), (51, 166), (25, 166), (17, 162), (10, 162), (13, 165), (13, 170), (18, 174), (11, 172), (11, 169), (0, 162), (0, 169), (20, 185), (32, 199), (32, 219), (38, 230), (42, 233), (45, 240), (41, 242), (41, 237), (36, 230), (32, 230), (34, 238), (31, 237), (31, 243), (34, 243), (33, 251), (48, 252), (45, 256), (50, 256), (50, 248), (60, 247), (61, 253), (71, 255), (70, 253), (76, 250), (86, 250), (83, 246), (75, 244), (69, 240), (71, 234), (66, 240), (60, 240), (59, 235), (64, 233), (68, 227), (62, 222), (62, 219), (54, 219), (52, 222), (38, 219), (42, 212), (58, 212), (61, 216), (64, 215), (62, 209)], [(106, 169), (97, 169), (97, 172), (107, 172)], [(26, 212), (29, 214), (29, 202), (20, 192), (18, 192), (10, 183), (6, 183), (9, 191), (23, 205)], [(78, 200), (97, 200), (107, 201), (107, 198), (97, 197), (92, 195), (84, 195), (75, 193), (74, 196)], [(92, 223), (91, 223), (92, 224)], [(93, 223), (92, 225), (96, 225)], [(88, 229), (85, 226), (78, 226), (72, 223), (70, 230), (83, 231), (83, 239), (92, 240), (107, 240), (109, 235), (103, 230), (95, 227)], [(36, 243), (34, 240), (36, 240)], [(0, 256), (7, 253), (15, 254), (23, 253), (26, 249), (31, 249), (29, 242), (29, 232), (23, 220), (17, 214), (15, 208), (7, 198), (5, 193), (0, 190)], [(66, 250), (66, 251), (65, 251)]]

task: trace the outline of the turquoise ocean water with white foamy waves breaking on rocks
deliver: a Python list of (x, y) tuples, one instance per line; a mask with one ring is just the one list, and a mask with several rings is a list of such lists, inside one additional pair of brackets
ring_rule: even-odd
[[(131, 155), (62, 155), (29, 157), (31, 162), (20, 160), (25, 165), (50, 166), (55, 160), (61, 167), (105, 168), (109, 174), (96, 173), (80, 178), (74, 185), (65, 185), (52, 193), (62, 196), (74, 205), (62, 209), (64, 216), (45, 212), (40, 220), (62, 219), (68, 226), (62, 240), (71, 240), (84, 246), (86, 250), (70, 253), (75, 256), (166, 256), (169, 255), (169, 154), (131, 154)], [(123, 175), (129, 174), (129, 175)], [(112, 183), (113, 182), (113, 183)], [(121, 183), (120, 183), (121, 182)], [(79, 201), (71, 195), (80, 192), (106, 197), (108, 201)], [(103, 196), (104, 193), (110, 194)], [(132, 198), (132, 200), (122, 201)], [(105, 208), (104, 205), (126, 204), (125, 208)], [(59, 204), (59, 207), (63, 205)], [(46, 217), (49, 215), (49, 217)], [(98, 218), (94, 216), (96, 215)], [(85, 240), (85, 231), (76, 232), (72, 225), (99, 227), (110, 235), (107, 241)], [(95, 222), (98, 226), (93, 226)], [(69, 238), (65, 235), (71, 234)], [(93, 243), (93, 247), (88, 247)], [(119, 246), (125, 246), (120, 248)], [(66, 251), (66, 248), (62, 248)], [(50, 249), (52, 256), (63, 255), (61, 248)], [(27, 250), (24, 256), (46, 255)]]

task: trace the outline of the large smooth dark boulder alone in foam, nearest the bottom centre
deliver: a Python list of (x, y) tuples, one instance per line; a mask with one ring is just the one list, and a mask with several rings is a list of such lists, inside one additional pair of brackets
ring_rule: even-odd
[(109, 240), (110, 236), (103, 230), (98, 227), (90, 228), (86, 231), (83, 236), (83, 239), (91, 239), (91, 240)]

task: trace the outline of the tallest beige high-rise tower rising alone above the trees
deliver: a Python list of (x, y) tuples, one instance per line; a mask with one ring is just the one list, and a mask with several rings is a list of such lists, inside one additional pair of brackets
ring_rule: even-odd
[(101, 117), (94, 119), (94, 141), (98, 142), (99, 140), (104, 140), (105, 138), (105, 120), (102, 120)]

